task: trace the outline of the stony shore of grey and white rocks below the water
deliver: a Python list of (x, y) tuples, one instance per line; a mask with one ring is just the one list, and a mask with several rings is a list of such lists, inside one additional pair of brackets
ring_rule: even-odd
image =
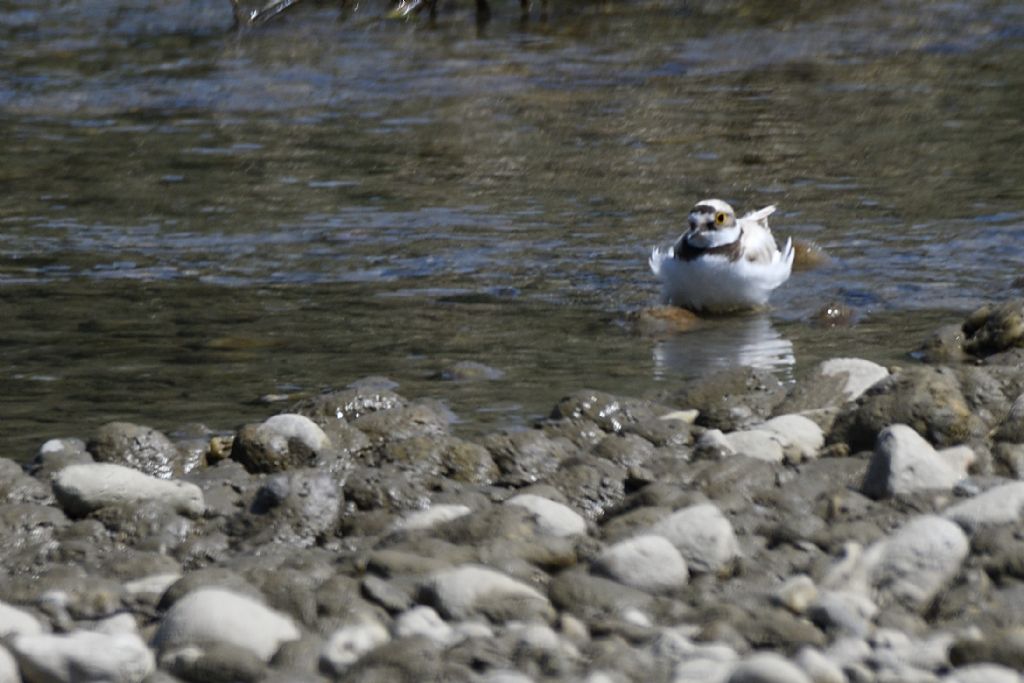
[(0, 683), (1020, 683), (1024, 300), (914, 355), (51, 439), (0, 459)]

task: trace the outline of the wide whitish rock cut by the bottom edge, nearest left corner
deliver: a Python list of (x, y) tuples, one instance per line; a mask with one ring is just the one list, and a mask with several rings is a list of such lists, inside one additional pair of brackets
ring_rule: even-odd
[(32, 682), (139, 683), (157, 666), (145, 642), (131, 633), (24, 635), (9, 645), (23, 678)]

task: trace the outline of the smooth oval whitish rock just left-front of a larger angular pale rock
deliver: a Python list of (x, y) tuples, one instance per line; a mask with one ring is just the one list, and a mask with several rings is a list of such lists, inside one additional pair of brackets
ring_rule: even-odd
[(597, 568), (621, 584), (659, 593), (686, 586), (690, 572), (676, 547), (662, 536), (638, 536), (606, 548)]

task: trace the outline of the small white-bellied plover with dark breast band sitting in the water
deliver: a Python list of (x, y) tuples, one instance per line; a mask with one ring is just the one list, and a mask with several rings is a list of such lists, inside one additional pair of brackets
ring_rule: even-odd
[(740, 218), (722, 200), (690, 209), (690, 228), (668, 249), (654, 248), (650, 269), (664, 303), (691, 310), (757, 308), (790, 279), (793, 240), (780, 252), (768, 227), (774, 206)]

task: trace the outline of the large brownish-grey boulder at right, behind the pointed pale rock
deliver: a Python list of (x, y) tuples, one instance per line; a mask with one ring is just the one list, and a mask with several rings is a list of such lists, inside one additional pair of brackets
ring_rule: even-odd
[(906, 368), (871, 386), (836, 419), (829, 441), (851, 451), (872, 447), (891, 424), (910, 426), (938, 446), (964, 443), (987, 431), (961, 392), (949, 368)]

